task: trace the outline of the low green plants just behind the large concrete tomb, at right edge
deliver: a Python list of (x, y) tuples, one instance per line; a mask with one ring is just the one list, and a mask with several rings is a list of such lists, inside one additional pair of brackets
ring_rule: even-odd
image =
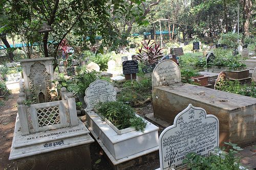
[(219, 90), (256, 98), (256, 84), (254, 82), (249, 85), (241, 84), (238, 81), (228, 81)]

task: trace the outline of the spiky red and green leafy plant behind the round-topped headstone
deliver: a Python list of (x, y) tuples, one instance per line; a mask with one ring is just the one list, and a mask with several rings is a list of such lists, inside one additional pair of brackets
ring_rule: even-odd
[(157, 45), (156, 42), (151, 43), (150, 41), (141, 42), (142, 46), (139, 49), (139, 53), (137, 53), (138, 55), (135, 57), (136, 60), (145, 65), (156, 63), (163, 54), (163, 48), (160, 48), (160, 45)]

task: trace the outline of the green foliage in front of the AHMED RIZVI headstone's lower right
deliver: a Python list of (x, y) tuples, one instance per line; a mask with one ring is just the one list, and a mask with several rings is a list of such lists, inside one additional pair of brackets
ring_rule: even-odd
[(208, 157), (197, 155), (196, 153), (188, 153), (186, 158), (182, 161), (187, 163), (192, 170), (239, 170), (239, 160), (235, 154), (241, 151), (237, 144), (225, 142), (230, 147), (228, 153), (225, 153), (225, 148), (221, 150), (215, 149), (216, 154), (211, 154)]

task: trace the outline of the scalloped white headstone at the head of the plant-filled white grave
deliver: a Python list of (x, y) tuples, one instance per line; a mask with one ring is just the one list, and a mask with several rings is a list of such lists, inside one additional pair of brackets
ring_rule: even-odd
[(116, 100), (116, 90), (113, 84), (97, 79), (86, 89), (84, 101), (87, 104), (86, 111), (93, 110), (98, 102), (110, 102)]

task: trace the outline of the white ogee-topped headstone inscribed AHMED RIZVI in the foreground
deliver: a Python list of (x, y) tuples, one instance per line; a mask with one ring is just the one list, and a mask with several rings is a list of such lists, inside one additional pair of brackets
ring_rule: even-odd
[(181, 169), (186, 154), (195, 152), (208, 156), (219, 146), (219, 120), (216, 116), (191, 104), (174, 119), (159, 137), (161, 169)]

